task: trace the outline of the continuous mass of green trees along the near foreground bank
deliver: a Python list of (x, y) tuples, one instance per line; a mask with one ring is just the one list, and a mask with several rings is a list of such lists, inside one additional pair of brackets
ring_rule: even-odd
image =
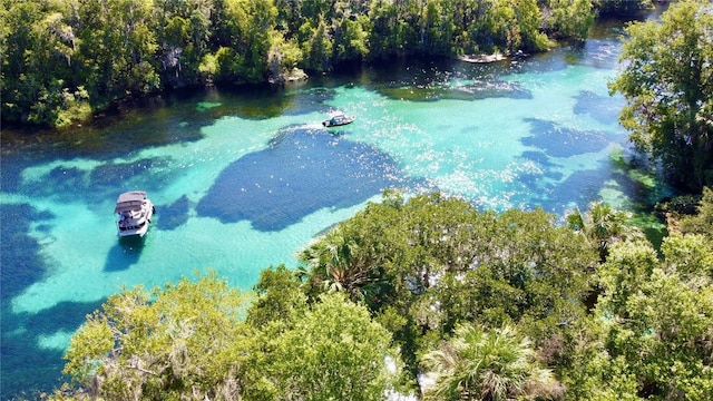
[(660, 255), (598, 204), (563, 226), (385, 193), (252, 295), (211, 274), (111, 296), (66, 355), (82, 392), (55, 398), (704, 400), (713, 190), (697, 209)]

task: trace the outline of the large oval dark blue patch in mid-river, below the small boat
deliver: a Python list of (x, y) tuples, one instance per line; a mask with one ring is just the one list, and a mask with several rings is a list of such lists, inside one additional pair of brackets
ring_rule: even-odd
[(225, 168), (198, 215), (280, 231), (321, 208), (353, 206), (407, 185), (387, 154), (322, 128), (287, 127), (270, 145)]

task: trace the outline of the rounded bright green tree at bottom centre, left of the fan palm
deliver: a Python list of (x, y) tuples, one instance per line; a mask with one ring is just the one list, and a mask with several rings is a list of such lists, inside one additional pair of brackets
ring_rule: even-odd
[(280, 400), (379, 400), (401, 380), (391, 334), (342, 294), (323, 295), (266, 348)]

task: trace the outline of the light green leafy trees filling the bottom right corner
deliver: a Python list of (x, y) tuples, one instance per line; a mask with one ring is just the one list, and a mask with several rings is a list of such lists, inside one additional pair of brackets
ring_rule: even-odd
[[(713, 388), (713, 248), (696, 236), (665, 239), (658, 261), (644, 243), (621, 243), (599, 268), (603, 295), (595, 319), (603, 330), (582, 372), (600, 373), (583, 399), (705, 399)], [(598, 368), (595, 368), (598, 366)], [(582, 378), (582, 376), (580, 376)], [(582, 391), (584, 387), (577, 388)]]

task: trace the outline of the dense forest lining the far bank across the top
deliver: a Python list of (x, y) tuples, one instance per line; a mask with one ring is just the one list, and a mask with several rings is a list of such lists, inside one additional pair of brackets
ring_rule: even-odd
[(651, 0), (2, 0), (2, 120), (61, 127), (175, 87), (395, 56), (541, 51)]

